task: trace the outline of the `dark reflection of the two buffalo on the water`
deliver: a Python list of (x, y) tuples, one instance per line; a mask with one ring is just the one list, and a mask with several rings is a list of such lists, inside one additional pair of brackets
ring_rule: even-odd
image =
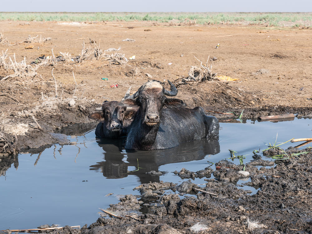
[(105, 161), (90, 166), (90, 170), (100, 169), (108, 179), (136, 175), (141, 183), (159, 182), (159, 176), (146, 172), (158, 172), (161, 165), (202, 160), (207, 154), (220, 152), (218, 139), (204, 138), (171, 149), (149, 151), (124, 149), (124, 141), (125, 139), (98, 139), (97, 142), (104, 151)]

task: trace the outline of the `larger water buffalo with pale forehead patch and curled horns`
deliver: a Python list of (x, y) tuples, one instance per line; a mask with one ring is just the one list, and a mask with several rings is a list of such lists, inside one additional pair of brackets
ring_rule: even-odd
[(171, 91), (156, 80), (148, 81), (124, 100), (126, 105), (139, 107), (129, 127), (126, 149), (167, 149), (182, 142), (219, 136), (216, 117), (205, 115), (201, 107), (185, 108), (182, 100), (165, 97), (178, 93), (169, 80), (168, 83)]

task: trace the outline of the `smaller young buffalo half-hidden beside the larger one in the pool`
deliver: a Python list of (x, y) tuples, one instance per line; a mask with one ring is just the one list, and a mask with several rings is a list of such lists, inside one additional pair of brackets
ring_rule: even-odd
[[(131, 87), (130, 87), (131, 88)], [(130, 88), (126, 93), (129, 96)], [(104, 102), (97, 108), (101, 112), (89, 115), (90, 119), (101, 121), (95, 129), (95, 135), (102, 138), (119, 138), (127, 134), (127, 128), (132, 123), (139, 107), (125, 105), (122, 101)]]

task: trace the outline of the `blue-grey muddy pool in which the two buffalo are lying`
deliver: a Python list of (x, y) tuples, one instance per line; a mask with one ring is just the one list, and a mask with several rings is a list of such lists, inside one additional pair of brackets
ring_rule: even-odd
[[(100, 141), (95, 139), (94, 130), (84, 129), (81, 134), (77, 133), (81, 128), (67, 129), (70, 145), (52, 145), (0, 162), (0, 230), (52, 223), (90, 225), (99, 217), (98, 207), (117, 203), (120, 194), (138, 195), (132, 189), (141, 183), (181, 183), (183, 179), (173, 171), (183, 167), (190, 171), (203, 169), (211, 165), (207, 161), (215, 163), (229, 158), (228, 149), (248, 154), (244, 160), (247, 163), (252, 160), (252, 151), (266, 149), (265, 143), (274, 143), (277, 133), (277, 142), (311, 137), (312, 121), (247, 120), (244, 124), (220, 126), (219, 141), (202, 139), (157, 151), (125, 150), (122, 140)], [(283, 148), (295, 145), (289, 142)], [(238, 159), (234, 163), (239, 164)], [(214, 165), (212, 168), (215, 169)], [(146, 174), (152, 170), (164, 174)], [(204, 178), (196, 178), (195, 183), (205, 183)]]

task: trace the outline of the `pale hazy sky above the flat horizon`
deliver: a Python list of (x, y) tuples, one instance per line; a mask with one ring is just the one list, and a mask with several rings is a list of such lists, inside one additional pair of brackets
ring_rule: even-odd
[(312, 12), (312, 0), (0, 0), (0, 12)]

